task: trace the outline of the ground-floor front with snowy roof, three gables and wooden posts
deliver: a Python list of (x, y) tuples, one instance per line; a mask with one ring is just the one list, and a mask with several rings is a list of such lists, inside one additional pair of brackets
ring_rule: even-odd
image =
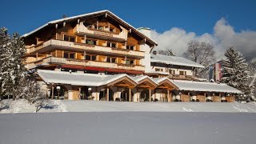
[(48, 98), (123, 102), (234, 102), (240, 90), (214, 82), (38, 70)]

